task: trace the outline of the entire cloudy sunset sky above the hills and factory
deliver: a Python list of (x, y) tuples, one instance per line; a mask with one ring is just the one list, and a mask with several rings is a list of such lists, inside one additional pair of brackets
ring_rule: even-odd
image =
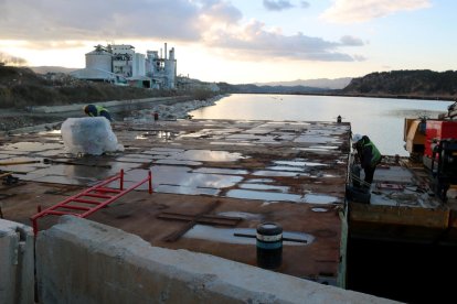
[(455, 0), (0, 0), (0, 59), (85, 66), (97, 44), (176, 48), (231, 84), (457, 69)]

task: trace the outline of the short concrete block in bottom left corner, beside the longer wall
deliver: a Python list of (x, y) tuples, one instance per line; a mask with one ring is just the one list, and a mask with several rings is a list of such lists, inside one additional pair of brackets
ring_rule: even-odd
[(34, 303), (33, 232), (0, 219), (0, 303)]

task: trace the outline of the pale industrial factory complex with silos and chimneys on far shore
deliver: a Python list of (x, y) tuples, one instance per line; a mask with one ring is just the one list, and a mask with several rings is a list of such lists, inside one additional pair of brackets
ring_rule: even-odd
[(86, 54), (86, 67), (71, 75), (93, 82), (173, 89), (177, 79), (174, 47), (167, 54), (166, 43), (163, 54), (162, 50), (160, 56), (158, 51), (147, 51), (146, 55), (136, 53), (128, 44), (97, 45)]

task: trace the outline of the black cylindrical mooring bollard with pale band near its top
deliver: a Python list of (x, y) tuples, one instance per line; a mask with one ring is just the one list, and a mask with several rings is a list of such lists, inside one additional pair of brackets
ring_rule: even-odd
[(275, 222), (257, 226), (257, 265), (264, 269), (279, 268), (283, 262), (283, 227)]

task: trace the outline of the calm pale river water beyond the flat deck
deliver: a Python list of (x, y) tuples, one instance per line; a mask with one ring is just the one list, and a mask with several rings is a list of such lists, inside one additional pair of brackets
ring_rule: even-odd
[(352, 132), (369, 135), (381, 153), (408, 155), (405, 118), (436, 118), (453, 101), (339, 96), (234, 94), (215, 106), (192, 111), (195, 119), (336, 121), (340, 115)]

